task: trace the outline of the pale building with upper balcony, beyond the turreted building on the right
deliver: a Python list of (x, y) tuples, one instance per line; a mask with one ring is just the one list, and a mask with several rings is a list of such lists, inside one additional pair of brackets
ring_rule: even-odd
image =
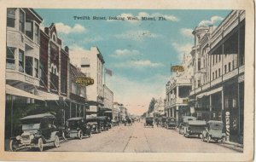
[(183, 71), (176, 72), (166, 84), (165, 113), (167, 117), (177, 119), (179, 124), (181, 116), (189, 115), (189, 91), (191, 90), (191, 56), (183, 55), (180, 67)]

